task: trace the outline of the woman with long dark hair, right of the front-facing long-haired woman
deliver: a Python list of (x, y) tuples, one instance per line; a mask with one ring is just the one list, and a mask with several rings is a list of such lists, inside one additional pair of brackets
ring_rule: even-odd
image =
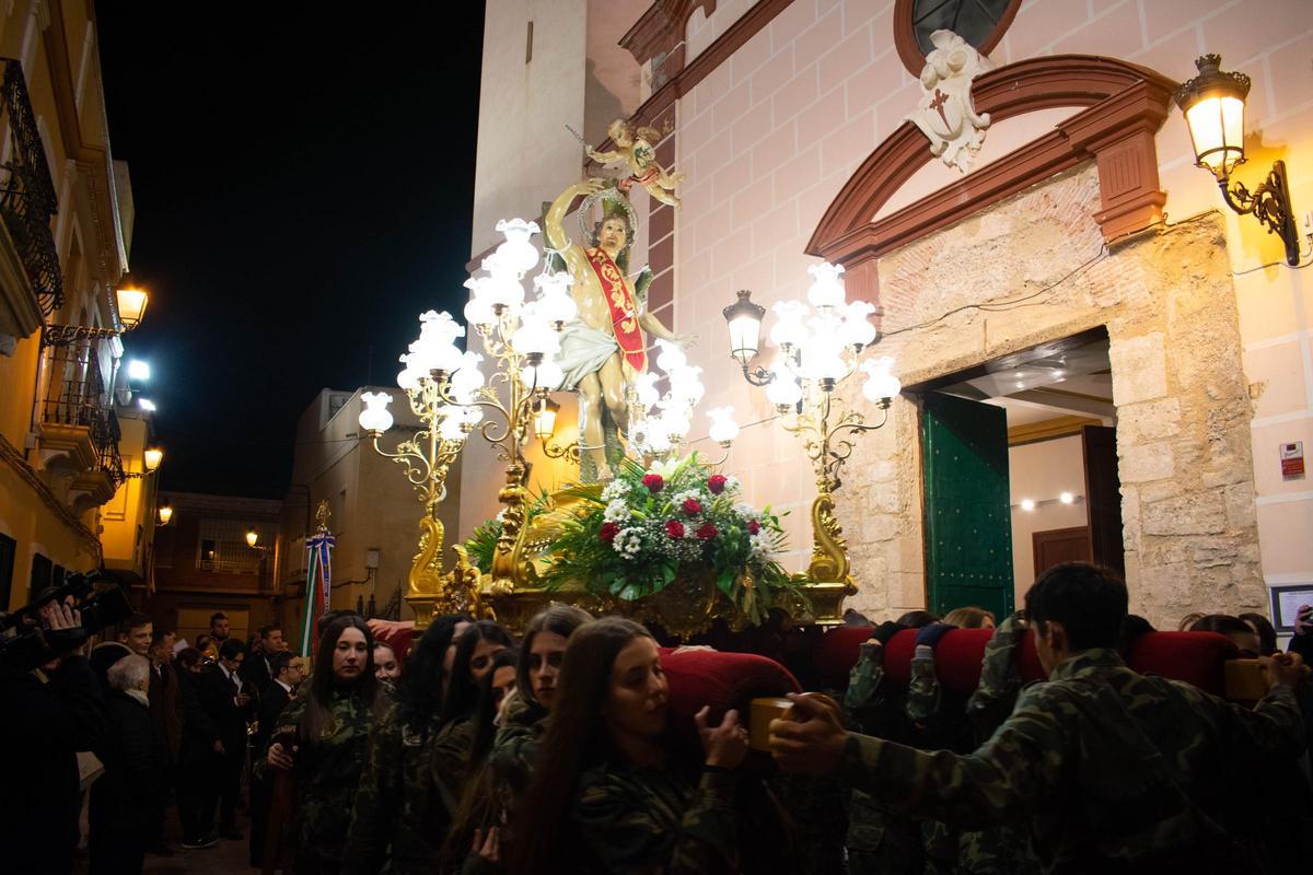
[(470, 624), (463, 614), (436, 618), (407, 659), (395, 704), (369, 737), (365, 774), (347, 841), (347, 868), (373, 875), (391, 858), (394, 872), (431, 872), (454, 800), (433, 783), (429, 762), (448, 681), (448, 653)]

